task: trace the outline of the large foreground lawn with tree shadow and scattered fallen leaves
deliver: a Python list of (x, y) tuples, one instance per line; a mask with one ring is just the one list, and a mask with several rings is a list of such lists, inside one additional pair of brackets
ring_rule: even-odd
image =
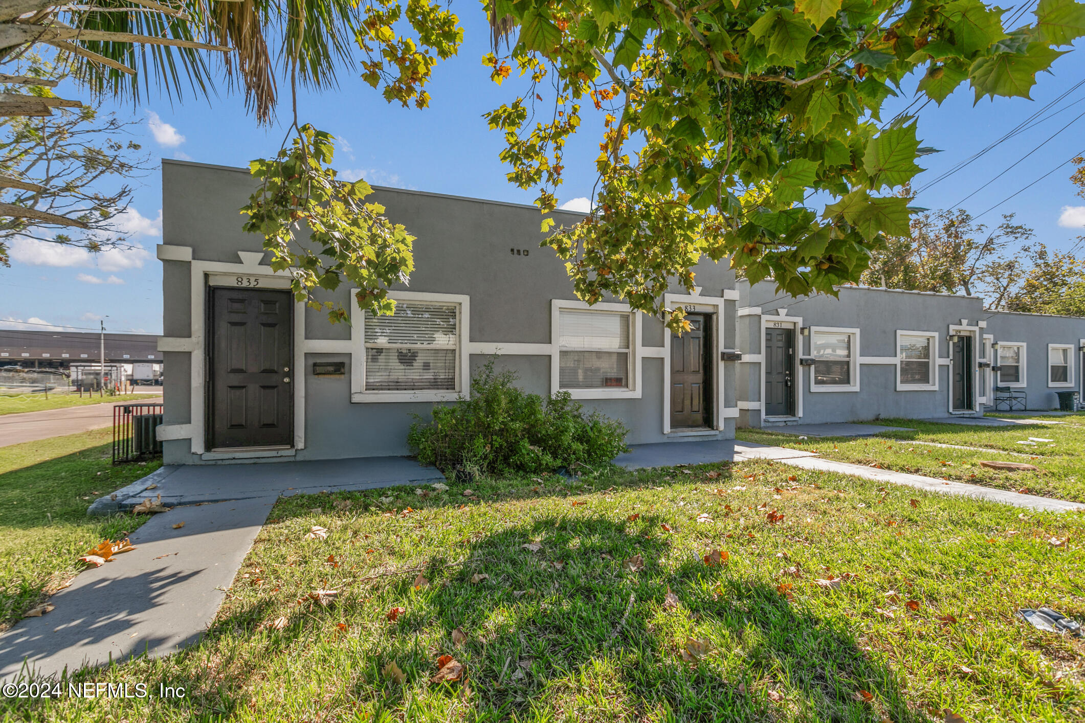
[[(1085, 644), (1014, 617), (1049, 605), (1085, 619), (1085, 515), (771, 462), (472, 487), (471, 498), (454, 487), (429, 498), (396, 488), (280, 500), (199, 645), (78, 674), (184, 686), (186, 697), (64, 698), (22, 702), (15, 714), (1085, 716)], [(782, 518), (770, 522), (774, 512)], [(314, 526), (327, 539), (306, 540)], [(704, 561), (713, 551), (727, 553), (723, 565)], [(638, 556), (642, 568), (626, 564)], [(316, 591), (335, 594), (321, 605)], [(463, 666), (462, 680), (433, 682), (442, 656)]]

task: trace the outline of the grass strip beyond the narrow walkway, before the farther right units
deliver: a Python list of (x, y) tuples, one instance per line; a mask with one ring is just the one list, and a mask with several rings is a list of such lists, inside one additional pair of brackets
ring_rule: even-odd
[[(1085, 424), (1074, 421), (1075, 417), (1062, 419), (1067, 424), (1012, 427), (882, 419), (879, 424), (916, 429), (883, 432), (877, 438), (810, 437), (802, 440), (795, 435), (765, 429), (739, 429), (737, 435), (739, 439), (761, 444), (816, 450), (828, 460), (880, 466), (1004, 490), (1027, 490), (1030, 494), (1085, 502)], [(1037, 442), (1034, 447), (1018, 443), (1027, 441), (1030, 437), (1055, 441)], [(919, 442), (984, 448), (990, 451), (947, 449)], [(981, 461), (1023, 462), (1035, 465), (1039, 470), (991, 469), (980, 466)]]

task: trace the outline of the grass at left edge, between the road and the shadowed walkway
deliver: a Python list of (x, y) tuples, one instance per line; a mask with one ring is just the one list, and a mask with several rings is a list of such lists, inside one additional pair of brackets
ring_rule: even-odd
[(0, 447), (0, 630), (71, 580), (88, 547), (142, 518), (88, 517), (99, 496), (156, 469), (111, 464), (111, 429)]

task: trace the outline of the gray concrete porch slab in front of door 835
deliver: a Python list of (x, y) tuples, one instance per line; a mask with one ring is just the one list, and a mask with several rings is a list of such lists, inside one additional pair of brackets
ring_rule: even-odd
[[(91, 515), (111, 515), (130, 509), (149, 496), (162, 495), (167, 506), (200, 502), (248, 500), (254, 498), (370, 490), (396, 485), (444, 482), (436, 467), (411, 457), (352, 457), (311, 462), (267, 464), (167, 465), (116, 491), (116, 500), (105, 495), (88, 509)], [(153, 489), (148, 489), (151, 486)]]

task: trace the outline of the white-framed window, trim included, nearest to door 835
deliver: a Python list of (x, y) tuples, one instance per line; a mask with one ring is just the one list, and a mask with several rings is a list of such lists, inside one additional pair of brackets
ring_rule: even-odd
[[(350, 401), (452, 401), (469, 393), (468, 297), (391, 292), (395, 312), (354, 307)], [(360, 321), (360, 323), (359, 323)]]

